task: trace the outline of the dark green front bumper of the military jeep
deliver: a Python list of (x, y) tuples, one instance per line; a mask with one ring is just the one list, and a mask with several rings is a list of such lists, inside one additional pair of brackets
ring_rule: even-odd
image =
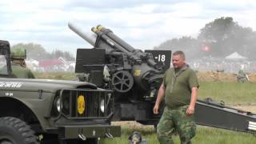
[(61, 139), (114, 138), (121, 136), (120, 126), (61, 126), (58, 128)]

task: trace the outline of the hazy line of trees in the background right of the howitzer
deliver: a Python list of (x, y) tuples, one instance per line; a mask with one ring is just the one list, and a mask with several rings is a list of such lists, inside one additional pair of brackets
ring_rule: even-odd
[(187, 57), (225, 58), (238, 52), (246, 58), (255, 60), (256, 32), (250, 27), (239, 26), (231, 17), (216, 18), (207, 23), (197, 38), (183, 36), (162, 42), (155, 50), (183, 50)]

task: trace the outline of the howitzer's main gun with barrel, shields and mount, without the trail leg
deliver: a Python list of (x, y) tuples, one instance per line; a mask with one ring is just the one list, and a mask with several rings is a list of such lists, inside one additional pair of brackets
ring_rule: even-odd
[[(93, 49), (78, 49), (76, 73), (86, 73), (89, 82), (114, 90), (116, 120), (154, 124), (152, 110), (165, 70), (170, 67), (170, 50), (136, 50), (110, 29), (96, 26), (83, 33), (74, 23), (69, 27)], [(108, 77), (108, 78), (106, 78)]]

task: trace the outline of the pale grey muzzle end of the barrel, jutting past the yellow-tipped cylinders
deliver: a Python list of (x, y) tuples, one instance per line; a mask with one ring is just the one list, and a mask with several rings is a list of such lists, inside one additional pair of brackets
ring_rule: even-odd
[(96, 34), (93, 34), (93, 33), (89, 32), (89, 31), (88, 32), (83, 31), (82, 28), (80, 28), (74, 22), (69, 22), (68, 26), (70, 27), (70, 30), (73, 30), (81, 38), (86, 40), (86, 42), (89, 42), (91, 46), (95, 45), (95, 42), (96, 42), (96, 39), (97, 39), (97, 35)]

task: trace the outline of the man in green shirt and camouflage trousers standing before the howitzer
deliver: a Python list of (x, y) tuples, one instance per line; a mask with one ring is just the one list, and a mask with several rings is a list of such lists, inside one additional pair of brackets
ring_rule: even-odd
[(177, 132), (182, 144), (190, 144), (196, 131), (194, 106), (198, 78), (194, 70), (186, 65), (182, 51), (174, 52), (172, 63), (174, 67), (166, 70), (154, 105), (154, 114), (158, 114), (162, 98), (165, 98), (166, 107), (157, 127), (158, 141), (173, 144), (172, 134)]

